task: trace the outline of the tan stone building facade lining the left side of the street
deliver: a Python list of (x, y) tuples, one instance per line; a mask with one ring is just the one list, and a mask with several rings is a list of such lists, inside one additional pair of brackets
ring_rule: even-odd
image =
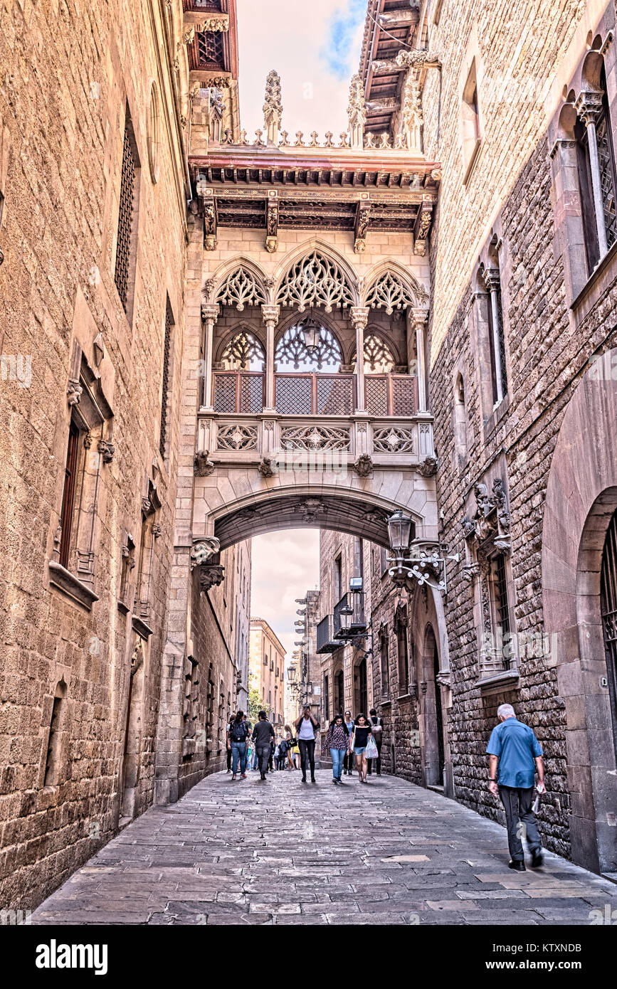
[(180, 2), (55, 17), (9, 5), (0, 39), (0, 900), (27, 907), (219, 767), (236, 615), (247, 686), (246, 546), (221, 561), (244, 611), (229, 588), (225, 624), (195, 582), (182, 651), (170, 611), (195, 452), (190, 29)]

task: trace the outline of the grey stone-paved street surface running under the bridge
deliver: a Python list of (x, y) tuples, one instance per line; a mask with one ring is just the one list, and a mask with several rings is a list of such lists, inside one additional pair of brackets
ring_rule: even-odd
[(208, 776), (130, 824), (33, 923), (588, 925), (617, 909), (616, 885), (555, 854), (512, 872), (504, 829), (453, 800), (343, 780)]

